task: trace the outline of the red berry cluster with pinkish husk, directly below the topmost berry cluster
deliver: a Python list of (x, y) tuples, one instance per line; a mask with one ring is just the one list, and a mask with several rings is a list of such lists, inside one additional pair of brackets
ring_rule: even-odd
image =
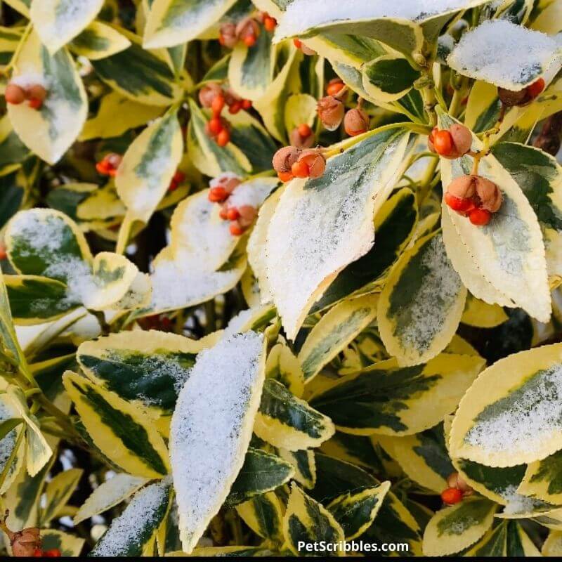
[(231, 115), (236, 115), (240, 110), (251, 108), (250, 100), (243, 100), (229, 90), (224, 91), (216, 82), (211, 82), (202, 87), (199, 91), (199, 101), (202, 107), (210, 109), (213, 117), (207, 123), (207, 134), (214, 138), (219, 146), (226, 146), (230, 143), (230, 124), (221, 117), (221, 113), (226, 105)]

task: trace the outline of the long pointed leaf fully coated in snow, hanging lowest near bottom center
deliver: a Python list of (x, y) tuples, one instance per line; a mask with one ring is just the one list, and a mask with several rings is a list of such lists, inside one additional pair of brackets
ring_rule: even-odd
[(263, 384), (263, 335), (222, 339), (197, 356), (171, 420), (183, 550), (190, 553), (244, 462)]

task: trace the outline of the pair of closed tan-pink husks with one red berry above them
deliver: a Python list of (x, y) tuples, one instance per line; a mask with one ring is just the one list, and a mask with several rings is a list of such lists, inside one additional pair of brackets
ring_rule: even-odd
[(335, 131), (341, 122), (344, 122), (344, 129), (349, 136), (358, 136), (369, 130), (370, 119), (367, 112), (362, 109), (362, 99), (358, 100), (357, 107), (346, 113), (344, 100), (347, 95), (347, 88), (343, 81), (334, 78), (329, 81), (327, 96), (318, 100), (318, 118), (328, 131)]

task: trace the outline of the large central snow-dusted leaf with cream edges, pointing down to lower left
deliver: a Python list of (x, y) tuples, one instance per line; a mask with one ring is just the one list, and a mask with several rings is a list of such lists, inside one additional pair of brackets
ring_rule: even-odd
[(402, 140), (367, 138), (329, 159), (324, 176), (290, 183), (280, 197), (265, 251), (268, 285), (289, 339), (322, 282), (371, 249), (375, 197), (394, 181), (398, 166), (391, 162)]

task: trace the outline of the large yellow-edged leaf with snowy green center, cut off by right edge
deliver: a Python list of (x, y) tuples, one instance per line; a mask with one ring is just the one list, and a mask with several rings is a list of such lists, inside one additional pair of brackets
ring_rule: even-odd
[(452, 455), (515, 466), (560, 449), (561, 362), (562, 345), (555, 344), (514, 353), (482, 372), (452, 423)]

